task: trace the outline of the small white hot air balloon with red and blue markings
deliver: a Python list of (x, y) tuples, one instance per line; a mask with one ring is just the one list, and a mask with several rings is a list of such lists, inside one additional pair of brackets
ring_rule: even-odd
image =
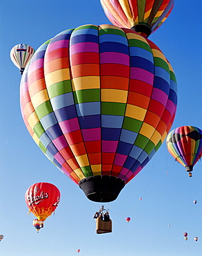
[(33, 55), (34, 48), (28, 46), (28, 44), (17, 44), (10, 51), (10, 58), (14, 65), (19, 68), (21, 75)]

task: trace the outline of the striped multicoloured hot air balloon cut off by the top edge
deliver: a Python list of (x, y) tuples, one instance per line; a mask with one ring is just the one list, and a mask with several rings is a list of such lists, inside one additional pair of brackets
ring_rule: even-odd
[(101, 6), (115, 26), (130, 28), (148, 37), (168, 18), (174, 0), (101, 0)]

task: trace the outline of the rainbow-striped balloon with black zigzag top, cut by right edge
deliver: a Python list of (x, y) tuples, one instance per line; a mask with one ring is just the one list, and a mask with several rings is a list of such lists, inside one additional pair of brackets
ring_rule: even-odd
[(201, 129), (194, 126), (178, 127), (170, 131), (166, 143), (170, 154), (192, 177), (193, 167), (202, 155)]

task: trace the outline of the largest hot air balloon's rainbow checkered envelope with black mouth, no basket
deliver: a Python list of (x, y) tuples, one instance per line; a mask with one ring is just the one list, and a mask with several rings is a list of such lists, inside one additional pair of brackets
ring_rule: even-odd
[(36, 51), (21, 79), (21, 113), (44, 154), (97, 202), (117, 199), (166, 138), (176, 80), (150, 40), (83, 25)]

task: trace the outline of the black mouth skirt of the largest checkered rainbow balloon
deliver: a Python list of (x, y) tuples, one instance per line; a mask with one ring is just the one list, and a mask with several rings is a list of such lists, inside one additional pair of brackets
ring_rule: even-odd
[(114, 201), (124, 186), (125, 181), (110, 175), (90, 176), (79, 181), (85, 196), (94, 202)]

